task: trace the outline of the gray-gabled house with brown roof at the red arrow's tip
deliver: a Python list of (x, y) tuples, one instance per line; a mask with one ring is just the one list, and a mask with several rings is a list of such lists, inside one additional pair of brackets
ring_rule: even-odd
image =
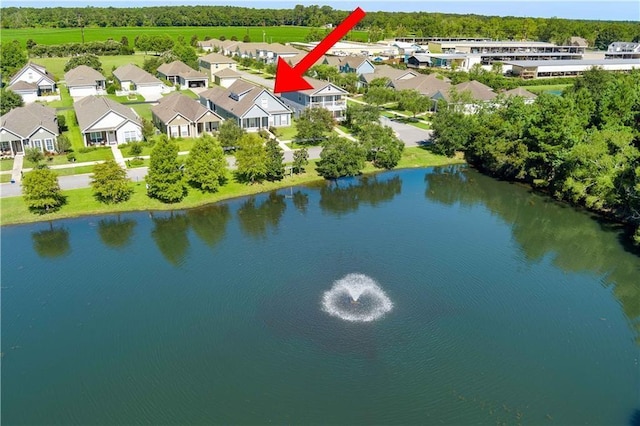
[(246, 130), (291, 125), (292, 111), (263, 87), (238, 80), (227, 89), (213, 87), (200, 93), (200, 103), (225, 120), (236, 120)]

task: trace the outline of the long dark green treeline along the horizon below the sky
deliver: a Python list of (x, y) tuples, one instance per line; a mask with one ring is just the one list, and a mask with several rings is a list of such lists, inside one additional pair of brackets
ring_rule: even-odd
[[(351, 12), (330, 6), (297, 5), (293, 9), (237, 6), (2, 8), (0, 28), (278, 26), (320, 27), (339, 24)], [(371, 39), (403, 37), (487, 37), (566, 43), (583, 37), (591, 46), (606, 48), (612, 41), (640, 41), (634, 21), (595, 21), (457, 15), (431, 12), (368, 12), (357, 29)]]

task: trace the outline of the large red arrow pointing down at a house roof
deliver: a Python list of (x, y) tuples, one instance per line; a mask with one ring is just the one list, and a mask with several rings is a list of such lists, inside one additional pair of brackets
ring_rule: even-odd
[(291, 68), (284, 59), (278, 58), (278, 68), (276, 70), (276, 82), (273, 91), (275, 93), (295, 92), (296, 90), (312, 89), (302, 75), (322, 57), (327, 50), (344, 37), (351, 28), (355, 27), (365, 12), (359, 7), (351, 12), (347, 19), (342, 21), (333, 31), (331, 31), (316, 47), (307, 53), (295, 67)]

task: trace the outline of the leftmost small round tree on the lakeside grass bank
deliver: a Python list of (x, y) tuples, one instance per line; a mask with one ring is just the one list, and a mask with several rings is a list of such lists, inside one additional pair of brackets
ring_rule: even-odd
[(65, 197), (60, 192), (58, 176), (48, 168), (37, 168), (25, 174), (22, 194), (27, 207), (34, 213), (56, 211), (65, 202)]

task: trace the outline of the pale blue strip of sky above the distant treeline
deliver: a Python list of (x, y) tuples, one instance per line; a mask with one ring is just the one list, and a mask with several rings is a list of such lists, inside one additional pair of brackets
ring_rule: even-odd
[[(51, 7), (51, 1), (43, 0), (0, 0), (2, 7)], [(365, 11), (398, 11), (398, 12), (446, 12), (446, 13), (475, 13), (478, 15), (497, 16), (529, 16), (529, 17), (558, 17), (569, 19), (594, 19), (615, 21), (640, 21), (640, 0), (327, 0), (327, 1), (279, 1), (279, 0), (58, 0), (55, 6), (63, 7), (140, 7), (164, 5), (231, 5), (256, 8), (290, 9), (296, 4), (306, 6), (316, 4), (328, 5), (334, 9), (353, 10), (361, 7)], [(640, 23), (639, 23), (640, 25)]]

